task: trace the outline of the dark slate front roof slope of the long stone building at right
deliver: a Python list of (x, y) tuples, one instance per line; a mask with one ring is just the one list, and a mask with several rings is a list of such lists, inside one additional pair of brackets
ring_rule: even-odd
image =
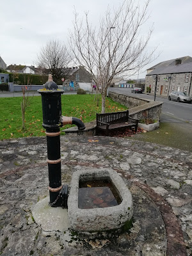
[(152, 72), (148, 73), (147, 76), (189, 72), (192, 72), (192, 62), (179, 65), (170, 65), (168, 67), (159, 67), (152, 70)]

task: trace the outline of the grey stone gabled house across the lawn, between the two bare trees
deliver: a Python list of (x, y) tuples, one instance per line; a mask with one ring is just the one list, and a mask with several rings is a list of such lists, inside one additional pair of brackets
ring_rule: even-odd
[(88, 72), (83, 66), (69, 68), (67, 78), (75, 83), (92, 82), (92, 74), (90, 74), (90, 72)]

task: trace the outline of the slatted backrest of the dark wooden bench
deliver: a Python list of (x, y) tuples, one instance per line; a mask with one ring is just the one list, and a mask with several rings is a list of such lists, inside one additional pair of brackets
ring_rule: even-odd
[[(96, 114), (97, 121), (108, 123), (108, 124), (127, 122), (128, 117), (129, 117), (129, 110), (121, 111), (121, 112)], [(97, 125), (99, 125), (98, 122), (97, 122)]]

